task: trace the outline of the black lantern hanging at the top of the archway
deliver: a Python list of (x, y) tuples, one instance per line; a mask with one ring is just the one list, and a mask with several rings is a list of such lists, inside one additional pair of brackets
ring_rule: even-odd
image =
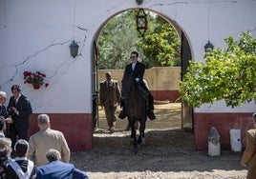
[(136, 15), (136, 24), (137, 24), (137, 30), (143, 37), (145, 34), (145, 31), (147, 30), (147, 14), (143, 9), (139, 9)]

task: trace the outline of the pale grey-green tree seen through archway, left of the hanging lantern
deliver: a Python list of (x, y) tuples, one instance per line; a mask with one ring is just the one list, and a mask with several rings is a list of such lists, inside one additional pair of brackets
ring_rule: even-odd
[(98, 69), (123, 69), (130, 62), (129, 55), (136, 50), (136, 21), (133, 10), (112, 18), (101, 31), (97, 46), (99, 48)]

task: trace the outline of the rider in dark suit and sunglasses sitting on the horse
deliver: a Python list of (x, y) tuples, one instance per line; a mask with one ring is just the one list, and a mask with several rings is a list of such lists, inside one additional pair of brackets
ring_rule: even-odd
[[(134, 82), (137, 84), (137, 87), (139, 88), (139, 91), (141, 95), (144, 97), (144, 99), (147, 101), (147, 112), (148, 112), (148, 118), (151, 120), (156, 119), (156, 116), (153, 112), (154, 110), (154, 98), (150, 92), (150, 90), (145, 86), (143, 82), (143, 76), (145, 72), (145, 66), (144, 64), (138, 62), (139, 53), (137, 51), (132, 51), (130, 55), (130, 59), (132, 61), (131, 64), (127, 65), (124, 70), (124, 74), (127, 73), (133, 73)], [(123, 75), (124, 76), (124, 75)], [(126, 87), (122, 86), (121, 90), (121, 99), (125, 100), (127, 97), (127, 92), (129, 89), (125, 89)], [(121, 102), (121, 106), (123, 106), (123, 102)]]

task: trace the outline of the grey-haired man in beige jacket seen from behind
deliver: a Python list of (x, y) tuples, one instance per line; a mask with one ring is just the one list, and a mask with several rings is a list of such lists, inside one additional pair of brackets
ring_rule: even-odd
[(37, 125), (40, 130), (30, 137), (30, 149), (28, 155), (35, 166), (41, 166), (48, 163), (44, 156), (48, 149), (57, 149), (61, 154), (62, 161), (69, 162), (70, 149), (67, 141), (61, 131), (51, 129), (49, 115), (38, 115)]

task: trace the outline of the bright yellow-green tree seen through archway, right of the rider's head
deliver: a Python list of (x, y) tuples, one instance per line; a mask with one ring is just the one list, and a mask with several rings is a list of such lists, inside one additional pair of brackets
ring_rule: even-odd
[(181, 40), (176, 30), (160, 17), (156, 24), (152, 32), (139, 39), (138, 46), (155, 67), (181, 66)]

